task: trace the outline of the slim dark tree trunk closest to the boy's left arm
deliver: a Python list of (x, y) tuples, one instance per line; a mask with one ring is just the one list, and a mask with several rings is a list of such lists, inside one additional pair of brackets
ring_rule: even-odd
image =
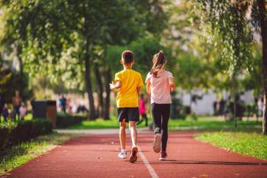
[(105, 72), (105, 84), (106, 84), (106, 99), (105, 99), (105, 114), (104, 120), (110, 119), (109, 107), (111, 105), (111, 88), (109, 88), (109, 83), (111, 83), (111, 68), (108, 67)]

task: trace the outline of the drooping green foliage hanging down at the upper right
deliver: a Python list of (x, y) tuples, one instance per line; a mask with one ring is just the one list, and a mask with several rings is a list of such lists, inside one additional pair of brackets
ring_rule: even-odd
[[(211, 40), (218, 36), (223, 45), (220, 61), (227, 66), (231, 75), (242, 69), (251, 70), (250, 46), (252, 31), (246, 18), (248, 3), (235, 1), (196, 0), (197, 8), (202, 9), (202, 23), (211, 33)], [(213, 34), (213, 35), (212, 35)]]

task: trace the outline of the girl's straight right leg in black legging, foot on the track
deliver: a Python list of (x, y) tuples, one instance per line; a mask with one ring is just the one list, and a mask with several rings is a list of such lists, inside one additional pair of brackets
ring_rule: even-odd
[(168, 121), (170, 118), (170, 104), (162, 106), (162, 129), (161, 129), (161, 151), (165, 152), (168, 141)]

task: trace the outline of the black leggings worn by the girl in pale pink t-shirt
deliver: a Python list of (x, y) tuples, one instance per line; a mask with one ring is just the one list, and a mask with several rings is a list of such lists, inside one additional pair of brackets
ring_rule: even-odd
[(155, 124), (154, 133), (161, 133), (161, 151), (165, 152), (168, 140), (168, 121), (170, 118), (170, 104), (151, 104), (152, 116)]

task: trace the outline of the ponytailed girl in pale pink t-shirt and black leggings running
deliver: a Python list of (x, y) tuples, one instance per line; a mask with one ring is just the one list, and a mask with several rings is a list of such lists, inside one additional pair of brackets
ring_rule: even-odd
[(171, 72), (165, 70), (167, 60), (163, 51), (154, 55), (153, 67), (147, 74), (147, 93), (151, 94), (154, 129), (154, 152), (160, 154), (159, 160), (167, 159), (168, 120), (170, 118), (170, 92), (175, 90), (175, 82)]

